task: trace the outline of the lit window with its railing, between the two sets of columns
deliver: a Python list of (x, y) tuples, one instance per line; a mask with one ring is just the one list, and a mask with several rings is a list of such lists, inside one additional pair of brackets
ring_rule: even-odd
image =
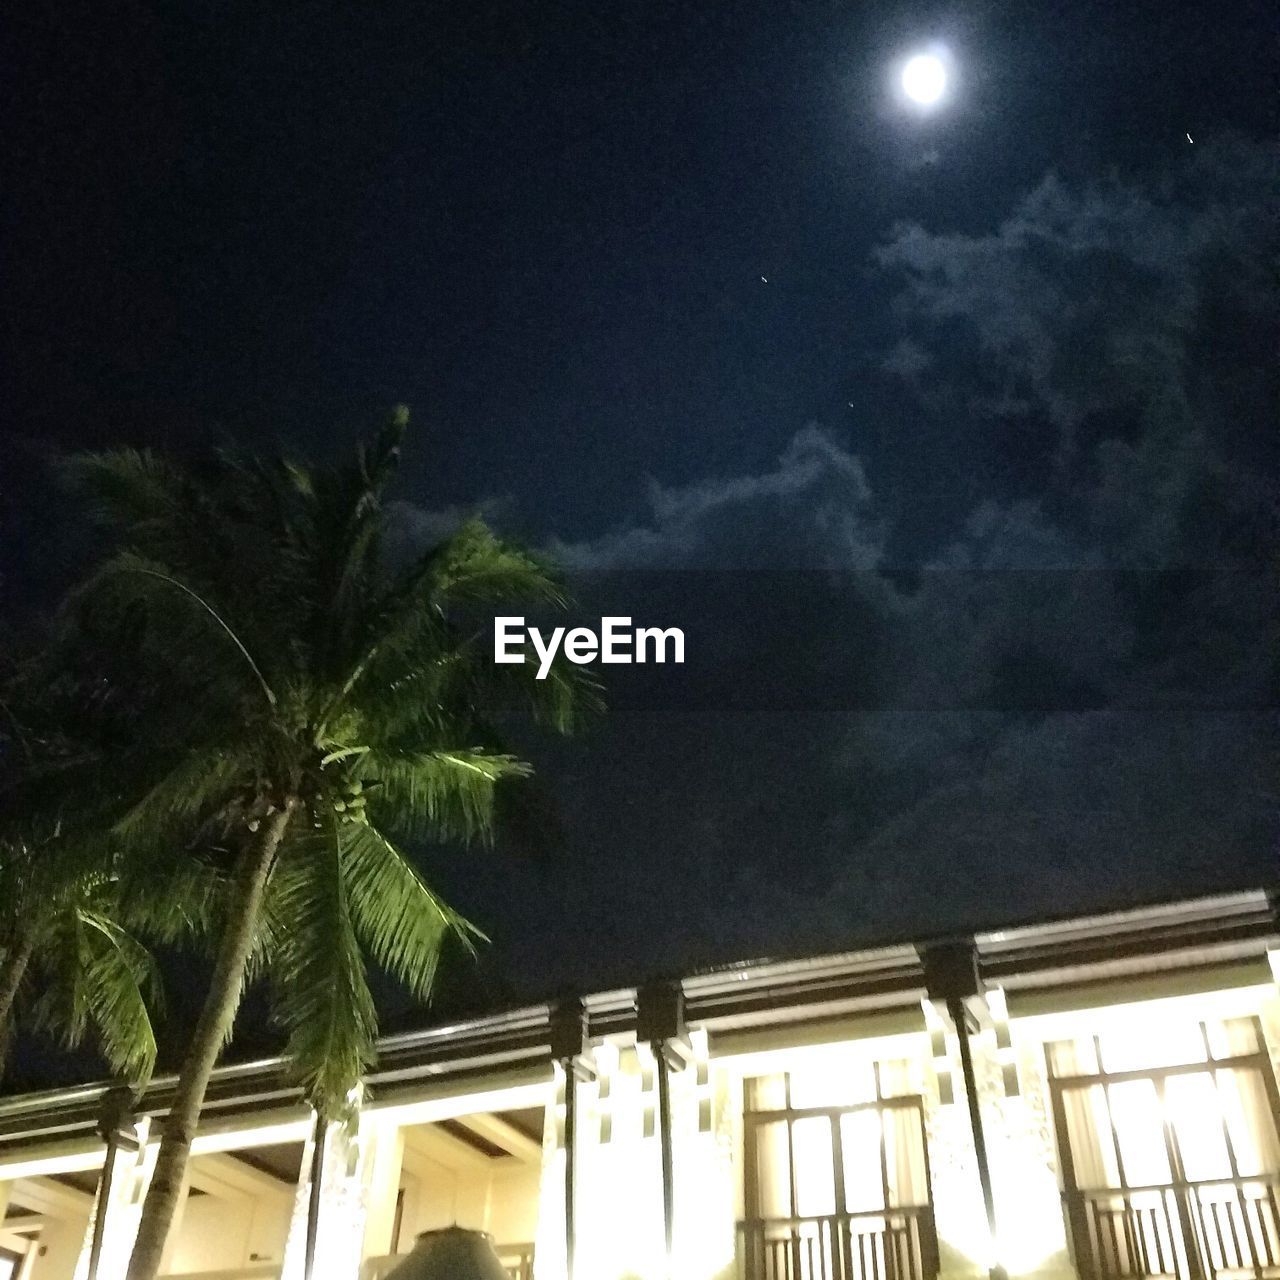
[(932, 1280), (924, 1107), (908, 1064), (841, 1064), (746, 1084), (748, 1280)]

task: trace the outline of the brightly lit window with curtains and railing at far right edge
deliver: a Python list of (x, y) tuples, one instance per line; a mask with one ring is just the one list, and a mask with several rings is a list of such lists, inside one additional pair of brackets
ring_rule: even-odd
[(1047, 1056), (1082, 1270), (1280, 1275), (1280, 1108), (1253, 1019), (1135, 1016)]

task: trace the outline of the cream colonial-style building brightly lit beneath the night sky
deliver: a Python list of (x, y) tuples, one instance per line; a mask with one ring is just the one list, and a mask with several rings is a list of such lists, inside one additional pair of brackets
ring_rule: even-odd
[[(513, 1280), (1280, 1277), (1277, 956), (1248, 892), (742, 964), (389, 1037), (319, 1149), (229, 1066), (165, 1270), (302, 1280), (314, 1187), (315, 1280), (453, 1222)], [(123, 1272), (169, 1087), (0, 1102), (0, 1280)]]

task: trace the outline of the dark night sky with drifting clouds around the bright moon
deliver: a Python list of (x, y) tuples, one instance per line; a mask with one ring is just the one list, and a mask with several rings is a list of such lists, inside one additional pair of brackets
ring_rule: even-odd
[(403, 401), (408, 544), (700, 645), (422, 851), (480, 982), (1274, 882), (1270, 5), (76, 8), (0, 55), (6, 618), (90, 550), (58, 451)]

